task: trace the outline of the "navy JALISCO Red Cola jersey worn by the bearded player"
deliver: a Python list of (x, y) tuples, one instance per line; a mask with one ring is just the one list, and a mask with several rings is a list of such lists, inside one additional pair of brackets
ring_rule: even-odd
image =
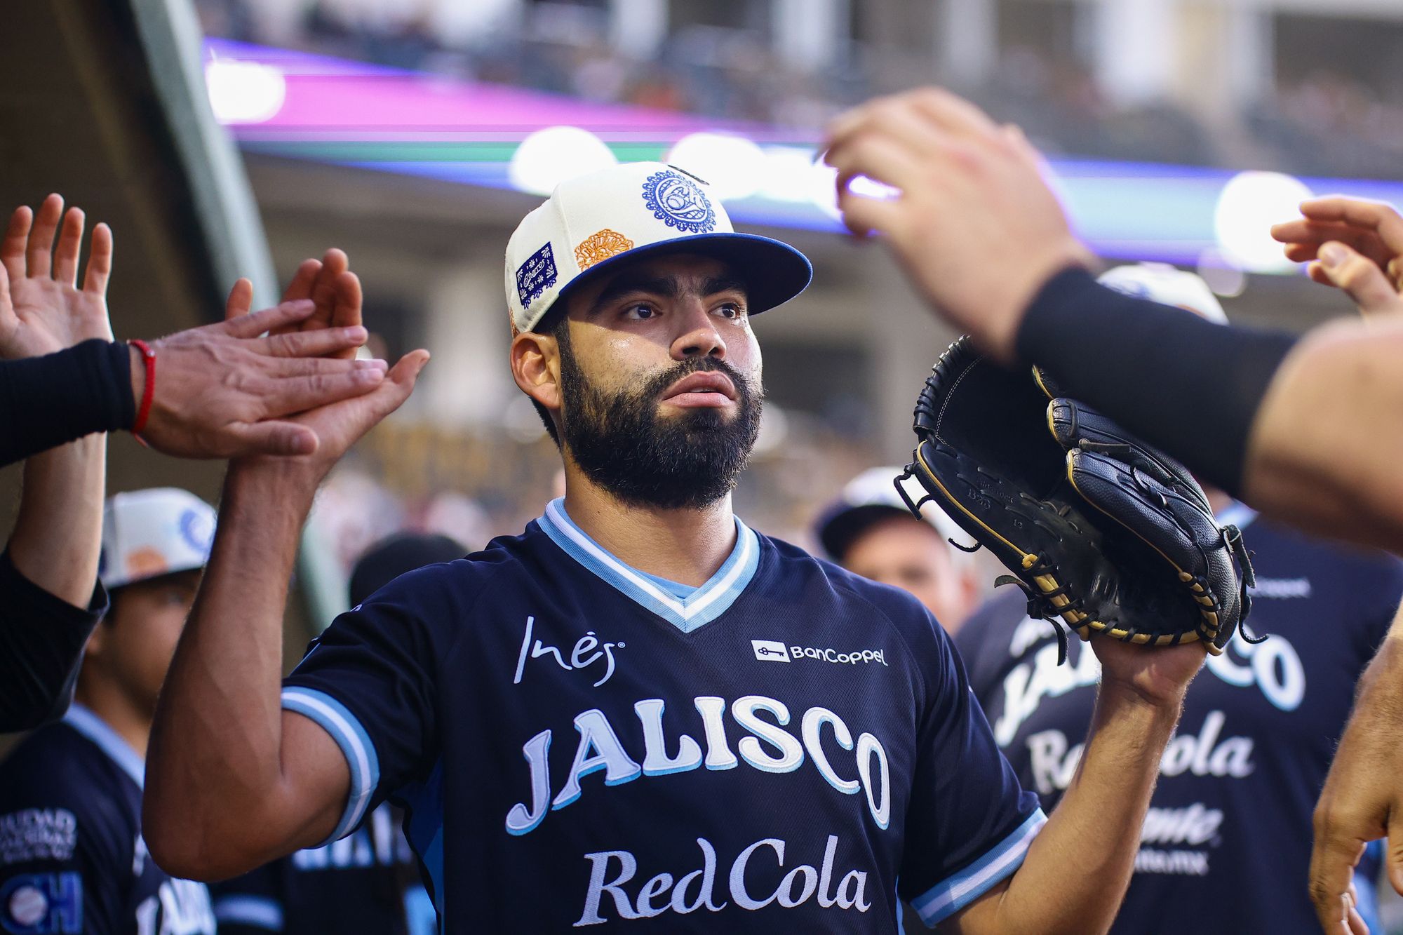
[(400, 577), (286, 679), (384, 799), (448, 932), (897, 929), (1017, 869), (1044, 817), (911, 595), (737, 521), (699, 588), (561, 501)]

